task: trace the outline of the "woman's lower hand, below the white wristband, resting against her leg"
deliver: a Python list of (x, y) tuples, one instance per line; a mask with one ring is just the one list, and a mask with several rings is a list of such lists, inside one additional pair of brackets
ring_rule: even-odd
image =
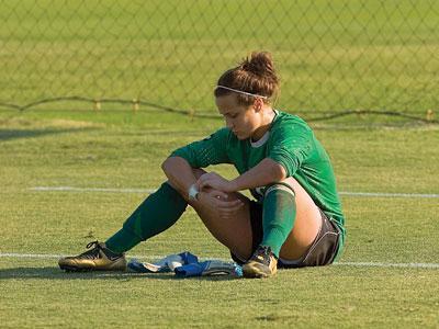
[(198, 200), (223, 219), (235, 217), (236, 212), (244, 206), (239, 198), (227, 200), (226, 193), (211, 189), (200, 192)]

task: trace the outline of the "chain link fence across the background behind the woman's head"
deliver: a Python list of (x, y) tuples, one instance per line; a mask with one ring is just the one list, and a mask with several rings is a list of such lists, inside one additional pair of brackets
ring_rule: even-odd
[(0, 107), (214, 114), (218, 76), (269, 50), (284, 111), (439, 110), (436, 0), (0, 0)]

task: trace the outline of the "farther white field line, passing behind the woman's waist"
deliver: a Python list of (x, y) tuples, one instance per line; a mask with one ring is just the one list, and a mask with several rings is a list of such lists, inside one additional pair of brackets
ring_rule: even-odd
[[(72, 186), (35, 186), (30, 191), (40, 192), (109, 192), (109, 193), (153, 193), (154, 189), (105, 189), (105, 188), (72, 188)], [(439, 198), (439, 194), (420, 194), (420, 193), (379, 193), (379, 192), (339, 192), (340, 195), (363, 196), (363, 197), (421, 197), (421, 198)]]

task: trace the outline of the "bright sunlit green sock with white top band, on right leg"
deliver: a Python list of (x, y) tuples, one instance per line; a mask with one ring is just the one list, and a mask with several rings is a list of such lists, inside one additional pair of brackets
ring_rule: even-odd
[(267, 189), (263, 198), (261, 246), (271, 247), (279, 258), (282, 245), (293, 229), (295, 220), (295, 195), (291, 188), (274, 184)]

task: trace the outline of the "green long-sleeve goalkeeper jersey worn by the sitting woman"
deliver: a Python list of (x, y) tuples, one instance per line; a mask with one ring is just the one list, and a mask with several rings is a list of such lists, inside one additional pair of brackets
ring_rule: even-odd
[[(345, 217), (336, 189), (333, 166), (326, 150), (309, 126), (299, 116), (275, 111), (270, 129), (257, 141), (239, 140), (229, 128), (222, 128), (207, 138), (175, 150), (171, 156), (185, 159), (192, 168), (232, 163), (239, 174), (270, 158), (293, 177), (314, 203), (333, 219), (341, 231), (340, 248), (346, 236)], [(261, 186), (263, 188), (263, 186)], [(251, 194), (263, 201), (261, 189)]]

